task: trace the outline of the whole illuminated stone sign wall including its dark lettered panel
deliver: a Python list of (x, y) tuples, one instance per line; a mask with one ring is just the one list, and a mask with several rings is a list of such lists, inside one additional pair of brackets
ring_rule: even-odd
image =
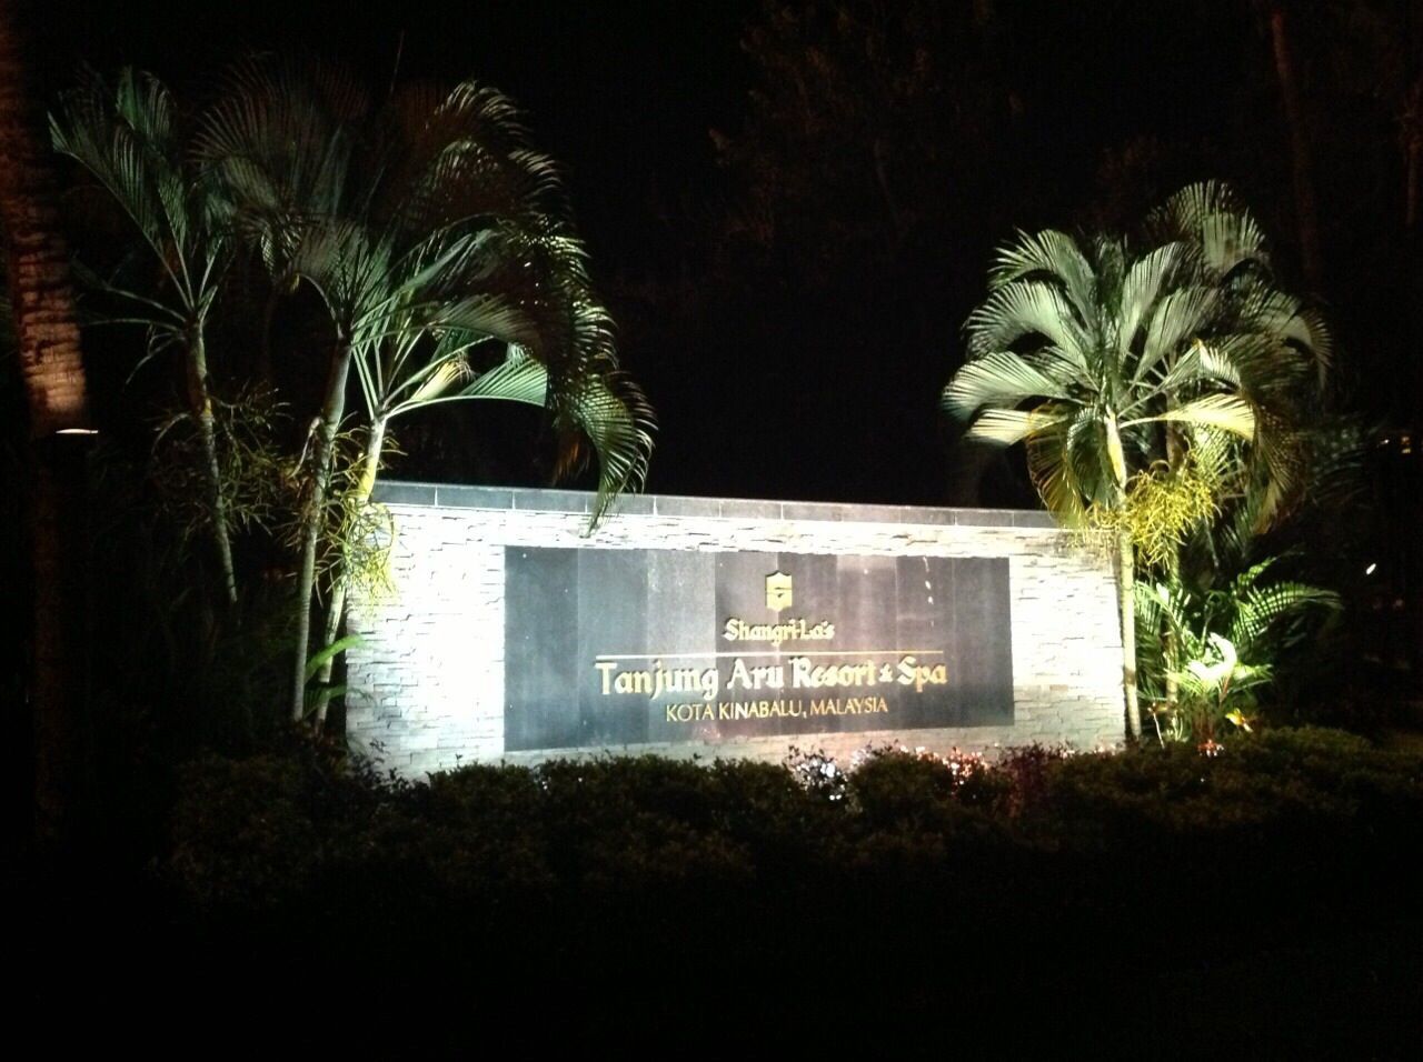
[(1104, 553), (1044, 513), (388, 483), (347, 734), (408, 775), (1121, 739)]

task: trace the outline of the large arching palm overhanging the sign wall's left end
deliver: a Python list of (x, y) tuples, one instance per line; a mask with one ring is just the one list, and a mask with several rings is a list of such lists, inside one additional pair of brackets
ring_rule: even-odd
[[(370, 418), (361, 503), (394, 417), (457, 398), (531, 401), (538, 377), (555, 424), (595, 441), (602, 508), (640, 481), (647, 409), (616, 372), (554, 163), (494, 90), (416, 85), (374, 107), (334, 68), (255, 60), (206, 117), (201, 152), (279, 286), (310, 284), (330, 323), (302, 520), (292, 690), (302, 717), (310, 599), (353, 365)], [(505, 351), (494, 375), (477, 370), (488, 348)], [(327, 644), (343, 604), (337, 579)]]

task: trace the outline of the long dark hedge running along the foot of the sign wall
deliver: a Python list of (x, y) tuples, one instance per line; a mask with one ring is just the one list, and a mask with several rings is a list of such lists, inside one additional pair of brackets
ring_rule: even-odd
[(1123, 901), (1165, 916), (1136, 921), (1157, 943), (1238, 931), (1229, 904), (1247, 926), (1338, 918), (1416, 890), (1397, 853), (1420, 842), (1423, 759), (1318, 729), (1242, 735), (1215, 756), (881, 748), (850, 771), (822, 753), (638, 756), (421, 783), (296, 748), (192, 763), (168, 870), (199, 914), (285, 918), (289, 935), (363, 954), (676, 947), (730, 968), (825, 933), (888, 948), (891, 923), (915, 927), (928, 961), (965, 934), (992, 948), (1059, 934), (1064, 916), (1104, 924)]

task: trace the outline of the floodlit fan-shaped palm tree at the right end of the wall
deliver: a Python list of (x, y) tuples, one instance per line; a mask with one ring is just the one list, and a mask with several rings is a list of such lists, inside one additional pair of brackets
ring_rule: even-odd
[[(1217, 489), (1264, 476), (1264, 512), (1278, 510), (1299, 466), (1291, 425), (1329, 354), (1319, 318), (1274, 287), (1254, 219), (1212, 183), (1173, 196), (1144, 240), (1019, 235), (966, 333), (943, 407), (970, 421), (970, 438), (1026, 444), (1039, 493), (1069, 526), (1120, 516), (1155, 462), (1194, 462)], [(1136, 557), (1127, 525), (1114, 526), (1136, 738)]]

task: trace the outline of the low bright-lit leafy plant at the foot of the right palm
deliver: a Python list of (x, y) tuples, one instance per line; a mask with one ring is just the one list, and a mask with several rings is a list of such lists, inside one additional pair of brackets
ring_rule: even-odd
[(1210, 741), (1224, 719), (1248, 728), (1254, 701), (1242, 695), (1266, 685), (1281, 654), (1313, 630), (1321, 613), (1339, 607), (1332, 590), (1265, 581), (1278, 563), (1262, 560), (1204, 591), (1178, 579), (1137, 584), (1141, 680), (1158, 739), (1163, 722), (1180, 739)]

